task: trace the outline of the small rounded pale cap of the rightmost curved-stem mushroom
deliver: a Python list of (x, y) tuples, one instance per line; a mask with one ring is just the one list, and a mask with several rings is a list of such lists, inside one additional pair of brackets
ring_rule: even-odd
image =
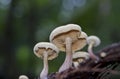
[(88, 43), (88, 44), (91, 44), (91, 42), (94, 43), (94, 44), (93, 44), (94, 47), (100, 45), (100, 43), (101, 43), (99, 37), (97, 37), (97, 36), (93, 36), (93, 35), (87, 37), (87, 43)]

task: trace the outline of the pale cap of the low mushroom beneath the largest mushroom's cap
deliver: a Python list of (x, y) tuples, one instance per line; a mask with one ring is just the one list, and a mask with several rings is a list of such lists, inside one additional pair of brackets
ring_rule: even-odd
[(87, 53), (87, 52), (84, 52), (84, 51), (79, 51), (79, 52), (75, 52), (74, 54), (73, 54), (73, 57), (72, 57), (73, 59), (80, 59), (80, 58), (84, 58), (84, 59), (89, 59), (90, 58), (90, 55), (89, 55), (89, 53)]

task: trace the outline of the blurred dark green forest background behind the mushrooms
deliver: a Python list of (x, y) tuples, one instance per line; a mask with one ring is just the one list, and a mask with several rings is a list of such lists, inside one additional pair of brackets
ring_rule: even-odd
[[(33, 54), (37, 42), (49, 41), (58, 26), (76, 23), (102, 43), (95, 51), (120, 40), (120, 0), (0, 0), (0, 79), (31, 79), (42, 70), (42, 60)], [(65, 53), (49, 61), (56, 72)], [(118, 78), (118, 77), (117, 77)], [(116, 79), (117, 79), (116, 78)]]

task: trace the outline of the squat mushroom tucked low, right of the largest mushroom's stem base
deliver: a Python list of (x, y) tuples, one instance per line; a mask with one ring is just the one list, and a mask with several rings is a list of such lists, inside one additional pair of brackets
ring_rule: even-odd
[(86, 60), (88, 60), (90, 58), (90, 55), (88, 52), (79, 51), (75, 52), (72, 58), (74, 67), (77, 67), (80, 63), (84, 63)]

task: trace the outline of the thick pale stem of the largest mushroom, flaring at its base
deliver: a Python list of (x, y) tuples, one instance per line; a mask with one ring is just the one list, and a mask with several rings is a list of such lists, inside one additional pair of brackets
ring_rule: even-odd
[(65, 39), (65, 45), (66, 45), (66, 58), (64, 63), (60, 67), (59, 72), (62, 72), (72, 67), (72, 39), (67, 37)]

